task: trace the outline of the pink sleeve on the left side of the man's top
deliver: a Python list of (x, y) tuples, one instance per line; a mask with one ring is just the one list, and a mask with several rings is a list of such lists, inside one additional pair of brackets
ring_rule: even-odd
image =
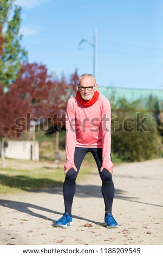
[(66, 162), (64, 166), (70, 169), (74, 166), (74, 153), (76, 144), (75, 113), (72, 98), (68, 100), (66, 110)]

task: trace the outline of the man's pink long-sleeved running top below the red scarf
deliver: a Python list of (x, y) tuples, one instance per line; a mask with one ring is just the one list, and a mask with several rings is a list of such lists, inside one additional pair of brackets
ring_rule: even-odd
[(109, 100), (99, 95), (97, 101), (84, 107), (71, 97), (66, 112), (66, 163), (70, 169), (74, 166), (75, 147), (102, 148), (102, 166), (107, 170), (113, 167), (111, 152), (111, 109)]

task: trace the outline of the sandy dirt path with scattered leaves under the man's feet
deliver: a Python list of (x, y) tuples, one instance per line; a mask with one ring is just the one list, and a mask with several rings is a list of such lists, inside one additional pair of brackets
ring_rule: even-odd
[(96, 170), (77, 182), (74, 225), (55, 228), (64, 211), (62, 189), (0, 195), (1, 245), (163, 245), (163, 159), (114, 168), (113, 215), (103, 227), (104, 203)]

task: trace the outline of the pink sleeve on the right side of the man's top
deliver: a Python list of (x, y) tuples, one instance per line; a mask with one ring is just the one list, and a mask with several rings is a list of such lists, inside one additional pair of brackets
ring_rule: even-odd
[(110, 102), (103, 102), (102, 108), (102, 166), (107, 170), (112, 169), (113, 163), (111, 160), (111, 107)]

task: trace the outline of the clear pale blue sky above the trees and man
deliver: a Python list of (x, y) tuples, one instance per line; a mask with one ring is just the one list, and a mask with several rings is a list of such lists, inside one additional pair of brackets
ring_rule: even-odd
[[(163, 89), (162, 0), (19, 0), (22, 46), (49, 73), (93, 73), (99, 86)], [(162, 90), (163, 92), (163, 90)], [(162, 93), (161, 92), (161, 93)]]

